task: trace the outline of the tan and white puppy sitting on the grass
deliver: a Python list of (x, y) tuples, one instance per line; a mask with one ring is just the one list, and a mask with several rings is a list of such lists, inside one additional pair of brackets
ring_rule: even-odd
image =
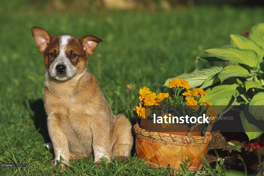
[(131, 123), (126, 116), (112, 113), (96, 78), (87, 70), (87, 58), (103, 41), (92, 35), (54, 37), (39, 27), (31, 32), (45, 60), (44, 106), (55, 153), (52, 164), (59, 164), (60, 156), (67, 165), (92, 153), (94, 163), (102, 157), (128, 157), (133, 145)]

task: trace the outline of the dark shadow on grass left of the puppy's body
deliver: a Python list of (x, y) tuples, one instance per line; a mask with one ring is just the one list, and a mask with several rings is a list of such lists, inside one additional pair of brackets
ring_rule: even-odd
[(44, 109), (44, 103), (42, 99), (29, 102), (30, 109), (34, 112), (32, 117), (36, 129), (43, 137), (45, 143), (51, 142), (48, 126), (47, 126), (47, 114)]

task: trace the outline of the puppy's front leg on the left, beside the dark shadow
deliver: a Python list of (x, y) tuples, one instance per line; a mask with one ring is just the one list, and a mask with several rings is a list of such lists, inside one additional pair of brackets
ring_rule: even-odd
[[(61, 129), (60, 122), (57, 120), (57, 117), (48, 116), (48, 131), (53, 144), (55, 158), (52, 164), (59, 164), (60, 156), (64, 159), (63, 163), (68, 165), (70, 157), (69, 151), (69, 141)], [(65, 170), (66, 166), (62, 165), (62, 170)]]

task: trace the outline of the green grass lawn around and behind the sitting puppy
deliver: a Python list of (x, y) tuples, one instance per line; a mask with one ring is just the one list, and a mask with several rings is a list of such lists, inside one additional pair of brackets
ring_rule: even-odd
[(96, 166), (88, 157), (66, 172), (59, 167), (53, 170), (49, 163), (54, 156), (44, 147), (49, 142), (43, 119), (44, 59), (32, 38), (32, 26), (52, 35), (101, 38), (104, 42), (89, 58), (88, 69), (114, 114), (129, 102), (125, 78), (133, 85), (131, 104), (123, 113), (135, 123), (132, 109), (139, 103), (140, 88), (160, 92), (167, 78), (209, 66), (196, 62), (196, 57), (229, 44), (230, 34), (264, 21), (263, 8), (228, 6), (89, 13), (0, 8), (0, 163), (27, 164), (26, 168), (0, 167), (0, 175), (169, 175), (168, 170), (143, 164), (134, 153), (129, 161)]

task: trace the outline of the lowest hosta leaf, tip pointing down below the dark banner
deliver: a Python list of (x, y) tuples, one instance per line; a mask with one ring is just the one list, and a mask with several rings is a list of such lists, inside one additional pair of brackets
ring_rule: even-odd
[(240, 118), (249, 140), (255, 139), (264, 133), (264, 121), (255, 119), (255, 117), (249, 113), (248, 105), (240, 112)]

